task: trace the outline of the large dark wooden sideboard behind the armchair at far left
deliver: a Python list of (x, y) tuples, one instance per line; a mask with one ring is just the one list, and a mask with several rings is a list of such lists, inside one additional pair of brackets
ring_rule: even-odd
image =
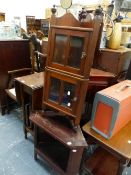
[(8, 71), (30, 68), (30, 49), (28, 40), (0, 41), (0, 111), (5, 113), (8, 87)]

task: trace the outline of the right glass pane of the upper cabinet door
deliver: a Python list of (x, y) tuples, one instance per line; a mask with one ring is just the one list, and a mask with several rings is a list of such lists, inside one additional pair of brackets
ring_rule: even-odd
[(70, 53), (68, 59), (69, 66), (80, 68), (83, 45), (84, 45), (84, 38), (77, 36), (72, 36), (70, 38)]

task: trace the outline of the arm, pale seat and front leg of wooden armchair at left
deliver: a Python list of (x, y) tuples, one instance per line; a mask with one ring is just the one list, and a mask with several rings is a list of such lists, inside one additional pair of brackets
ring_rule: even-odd
[(31, 68), (22, 68), (8, 71), (8, 88), (6, 91), (7, 112), (9, 113), (11, 102), (21, 105), (21, 97), (15, 90), (14, 78), (31, 74)]

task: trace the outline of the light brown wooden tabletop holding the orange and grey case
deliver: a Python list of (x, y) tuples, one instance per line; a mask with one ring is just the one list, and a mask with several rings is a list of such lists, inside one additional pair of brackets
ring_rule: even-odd
[(113, 151), (118, 156), (123, 157), (123, 159), (131, 159), (131, 122), (109, 140), (91, 129), (90, 121), (85, 124), (82, 129), (87, 135), (91, 136), (98, 144), (110, 152)]

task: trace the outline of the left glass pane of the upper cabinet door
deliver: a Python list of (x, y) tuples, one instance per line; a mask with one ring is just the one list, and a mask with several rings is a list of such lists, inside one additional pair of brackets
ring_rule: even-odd
[(56, 35), (53, 62), (64, 64), (67, 36)]

